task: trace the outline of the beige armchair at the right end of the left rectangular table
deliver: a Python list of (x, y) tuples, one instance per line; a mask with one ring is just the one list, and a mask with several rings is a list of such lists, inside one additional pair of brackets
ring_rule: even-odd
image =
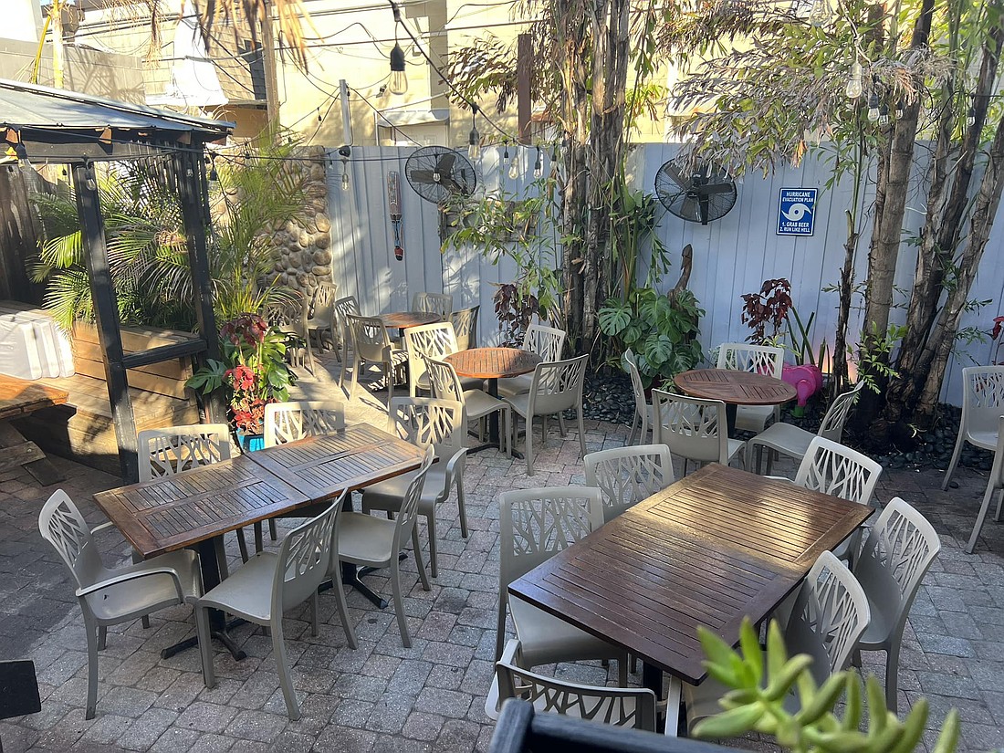
[[(436, 508), (457, 489), (460, 533), (467, 538), (467, 511), (464, 508), (464, 467), (467, 449), (464, 435), (467, 418), (462, 403), (435, 398), (395, 398), (388, 407), (388, 431), (419, 447), (431, 447), (439, 462), (426, 472), (419, 498), (419, 515), (429, 529), (429, 563), (433, 577), (439, 576), (436, 536)], [(416, 472), (378, 481), (362, 490), (362, 512), (387, 510), (397, 513)]]

